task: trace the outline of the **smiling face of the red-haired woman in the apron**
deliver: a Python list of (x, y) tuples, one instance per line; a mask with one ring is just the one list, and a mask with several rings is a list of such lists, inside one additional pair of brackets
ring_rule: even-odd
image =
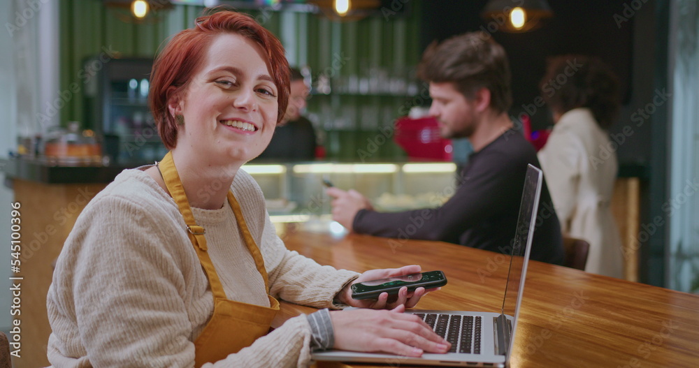
[(184, 94), (168, 105), (185, 117), (176, 149), (208, 165), (254, 159), (274, 133), (277, 96), (257, 43), (238, 34), (216, 36)]

